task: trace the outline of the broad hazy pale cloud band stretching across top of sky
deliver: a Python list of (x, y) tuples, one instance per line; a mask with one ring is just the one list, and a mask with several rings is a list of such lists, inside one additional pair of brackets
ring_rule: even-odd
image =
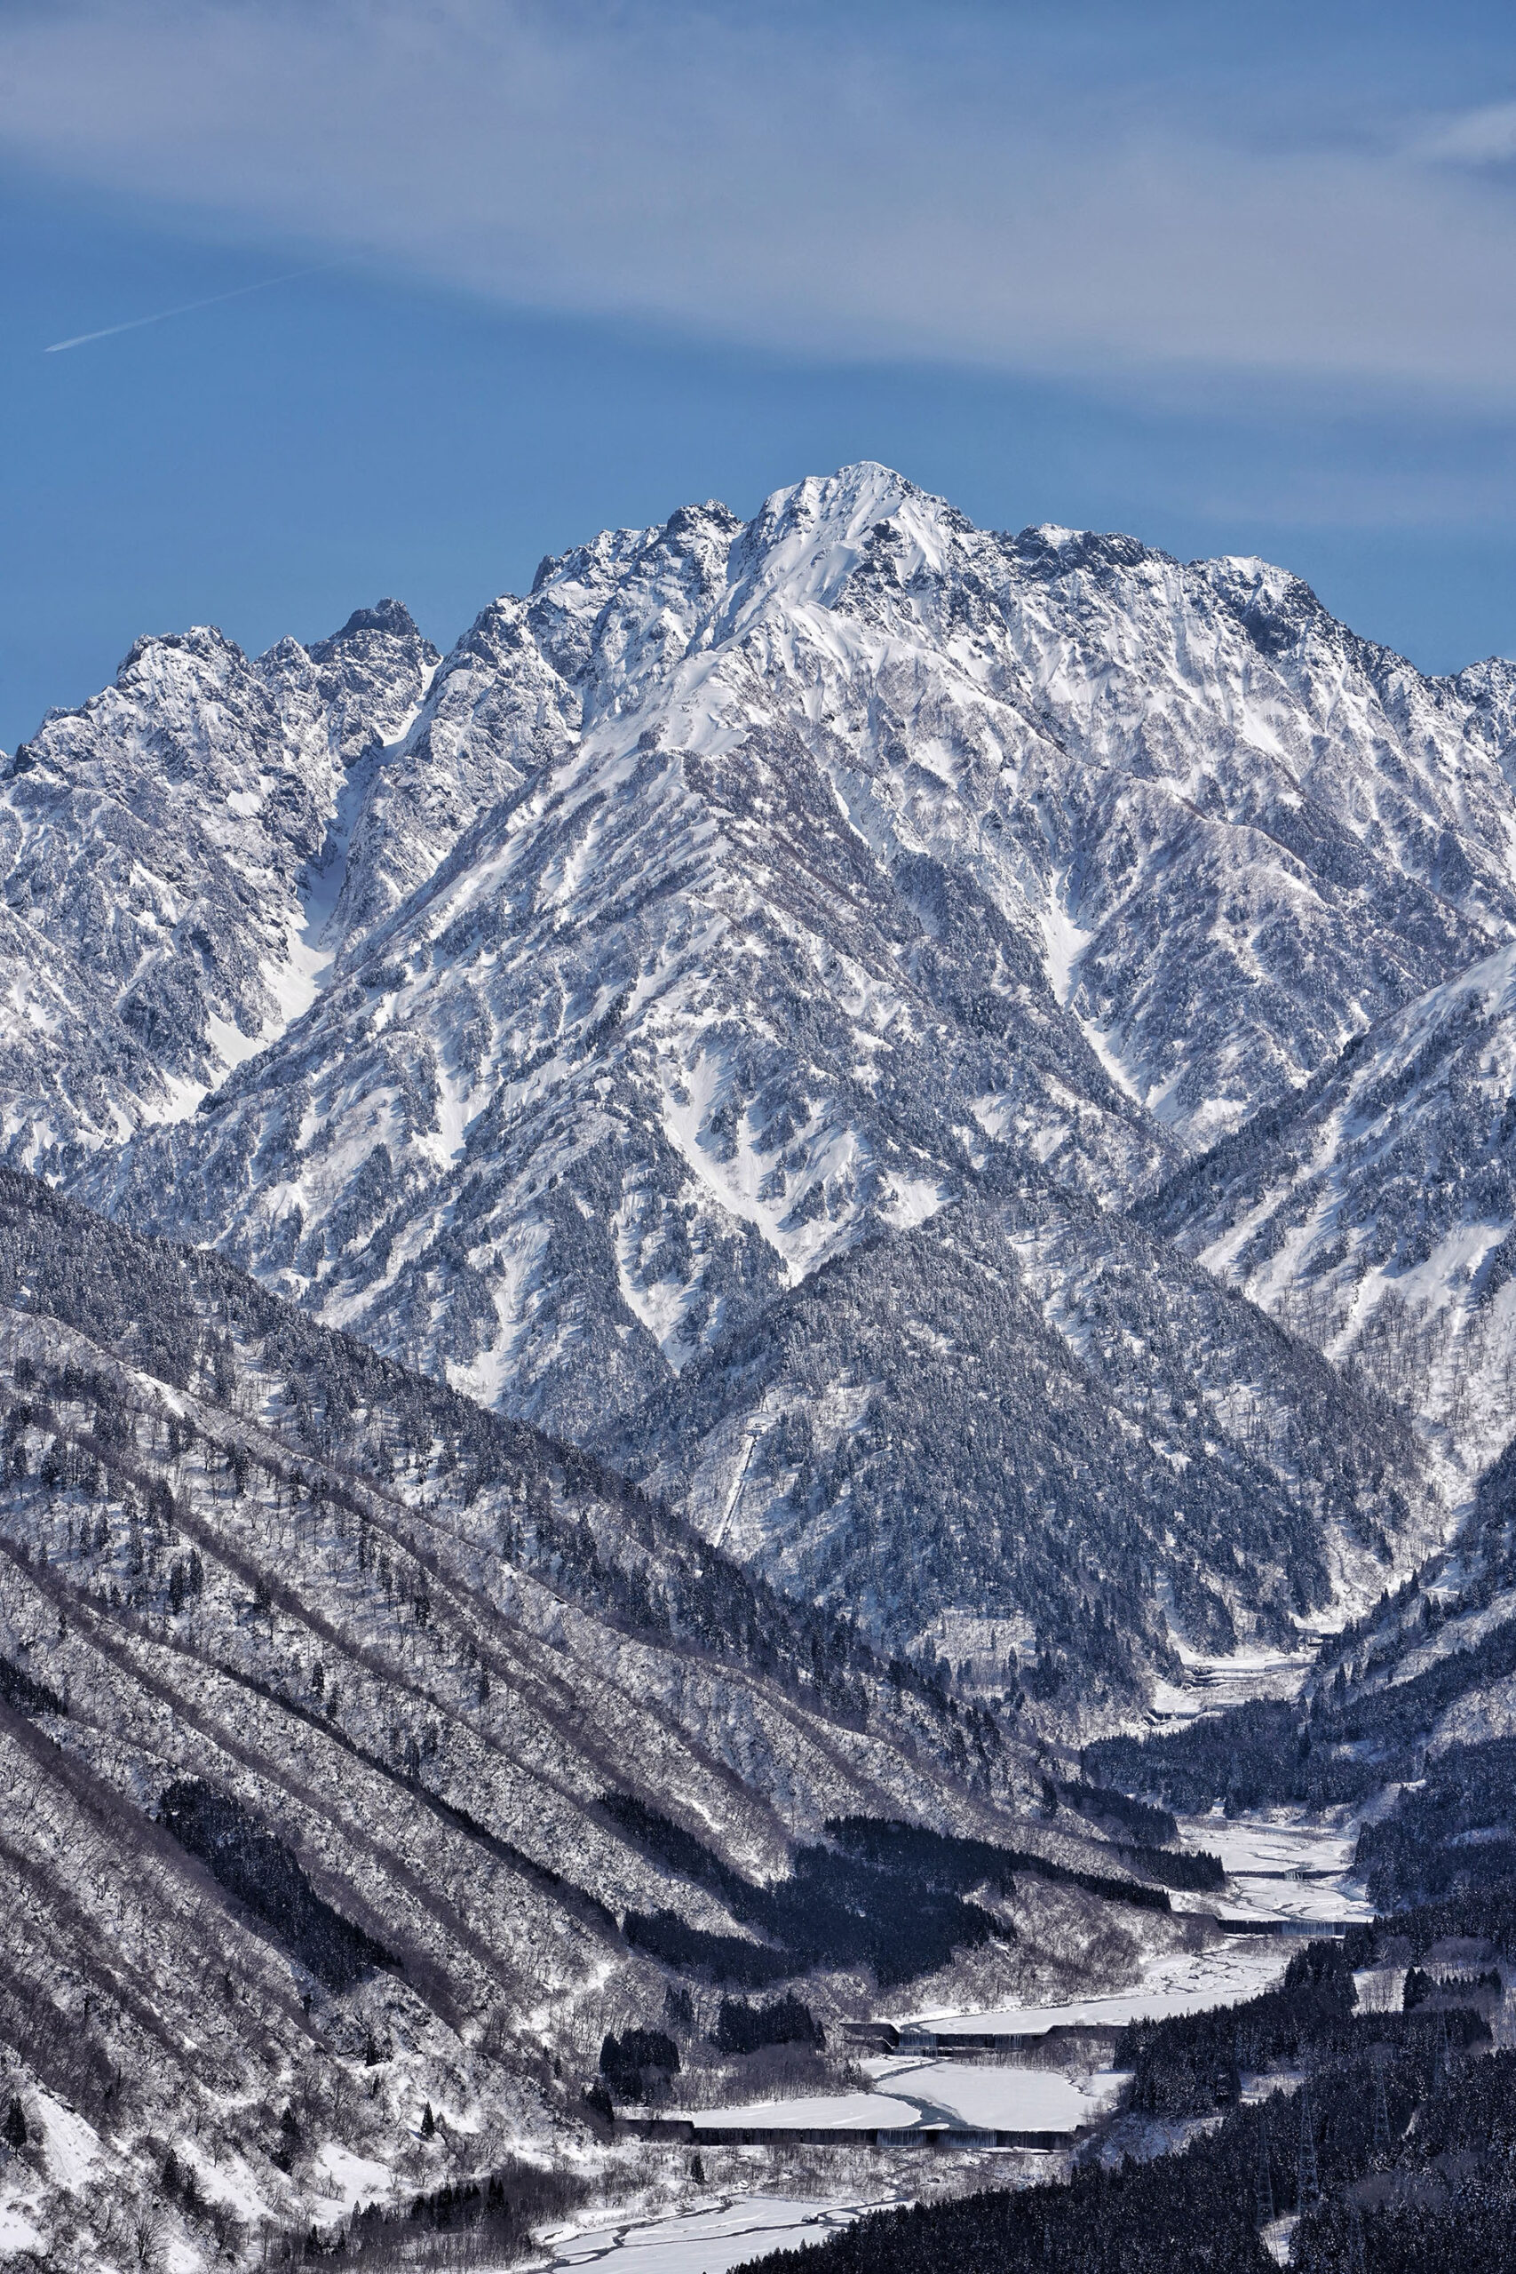
[[(1180, 73), (1182, 80), (1182, 73)], [(1043, 9), (73, 0), (0, 148), (511, 305), (780, 352), (1502, 391), (1509, 107), (1193, 100)]]

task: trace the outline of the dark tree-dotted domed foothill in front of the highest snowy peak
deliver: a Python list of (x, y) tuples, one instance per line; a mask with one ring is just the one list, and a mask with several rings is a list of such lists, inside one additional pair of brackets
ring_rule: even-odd
[(852, 1248), (600, 1442), (786, 1592), (1107, 1710), (1441, 1519), (1393, 1408), (1048, 1194)]

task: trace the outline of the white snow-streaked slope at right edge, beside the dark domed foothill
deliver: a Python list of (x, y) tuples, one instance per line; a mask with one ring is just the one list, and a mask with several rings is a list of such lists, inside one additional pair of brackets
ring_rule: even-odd
[(1380, 1021), (1143, 1214), (1409, 1412), (1473, 1478), (1516, 1410), (1516, 951)]

